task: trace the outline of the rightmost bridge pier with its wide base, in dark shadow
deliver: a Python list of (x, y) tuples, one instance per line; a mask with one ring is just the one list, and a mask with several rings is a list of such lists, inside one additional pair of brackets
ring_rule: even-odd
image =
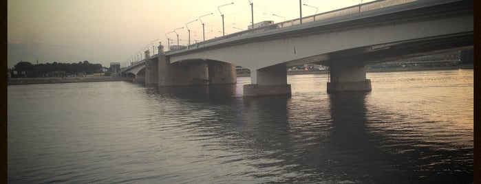
[(371, 91), (371, 80), (366, 79), (363, 62), (332, 62), (328, 93), (336, 91)]

